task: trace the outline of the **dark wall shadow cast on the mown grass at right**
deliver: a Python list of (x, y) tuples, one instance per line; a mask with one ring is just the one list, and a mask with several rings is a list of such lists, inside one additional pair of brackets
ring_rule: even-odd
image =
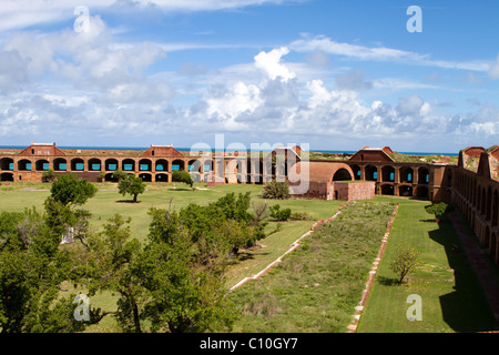
[(456, 332), (475, 333), (497, 329), (483, 291), (448, 216), (429, 237), (444, 246), (454, 270), (454, 292), (439, 296), (444, 321)]

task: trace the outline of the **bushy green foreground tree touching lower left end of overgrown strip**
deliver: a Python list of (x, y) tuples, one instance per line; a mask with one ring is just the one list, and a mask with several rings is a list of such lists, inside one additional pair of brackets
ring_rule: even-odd
[(152, 209), (150, 242), (136, 264), (151, 301), (145, 313), (153, 331), (230, 329), (237, 314), (226, 297), (226, 246), (221, 240), (193, 241), (176, 212)]

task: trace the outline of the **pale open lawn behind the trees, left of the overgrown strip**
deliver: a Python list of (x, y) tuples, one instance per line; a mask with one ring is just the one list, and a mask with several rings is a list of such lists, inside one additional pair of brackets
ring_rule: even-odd
[[(147, 210), (151, 207), (180, 210), (190, 203), (206, 205), (216, 201), (226, 193), (249, 192), (253, 202), (265, 201), (268, 205), (279, 204), (282, 207), (289, 207), (293, 212), (306, 213), (310, 220), (288, 221), (281, 223), (281, 230), (272, 233), (266, 239), (258, 241), (257, 247), (249, 251), (241, 251), (238, 260), (234, 261), (227, 273), (227, 288), (238, 283), (244, 277), (251, 277), (262, 271), (269, 263), (279, 257), (291, 247), (299, 236), (306, 233), (310, 226), (320, 219), (327, 219), (337, 212), (342, 204), (339, 201), (319, 200), (264, 200), (261, 197), (262, 185), (232, 184), (206, 189), (205, 184), (196, 183), (196, 191), (187, 185), (173, 184), (147, 184), (144, 194), (139, 196), (139, 203), (130, 203), (130, 196), (122, 196), (118, 193), (116, 184), (98, 183), (99, 189), (94, 197), (90, 199), (83, 209), (92, 213), (91, 227), (99, 232), (102, 225), (115, 213), (130, 216), (132, 236), (140, 241), (145, 241), (149, 233), (151, 217)], [(50, 195), (50, 184), (12, 184), (0, 186), (0, 212), (18, 211), (34, 206), (43, 211), (43, 202)], [(277, 222), (269, 221), (265, 232), (271, 233), (276, 230)], [(111, 293), (98, 294), (91, 300), (91, 306), (101, 307), (104, 311), (115, 308), (115, 297)], [(90, 332), (115, 332), (115, 324), (110, 316), (104, 317), (100, 324), (90, 327)]]

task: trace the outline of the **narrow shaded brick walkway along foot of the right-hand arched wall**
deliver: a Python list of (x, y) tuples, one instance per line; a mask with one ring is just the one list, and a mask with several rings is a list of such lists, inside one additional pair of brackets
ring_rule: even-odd
[(496, 321), (499, 322), (499, 283), (492, 273), (491, 266), (486, 262), (483, 257), (483, 251), (479, 247), (478, 243), (469, 235), (465, 224), (459, 216), (452, 212), (449, 214), (450, 220), (459, 235), (462, 247), (468, 255), (468, 260), (478, 276), (478, 280), (483, 288), (490, 307), (492, 308)]

